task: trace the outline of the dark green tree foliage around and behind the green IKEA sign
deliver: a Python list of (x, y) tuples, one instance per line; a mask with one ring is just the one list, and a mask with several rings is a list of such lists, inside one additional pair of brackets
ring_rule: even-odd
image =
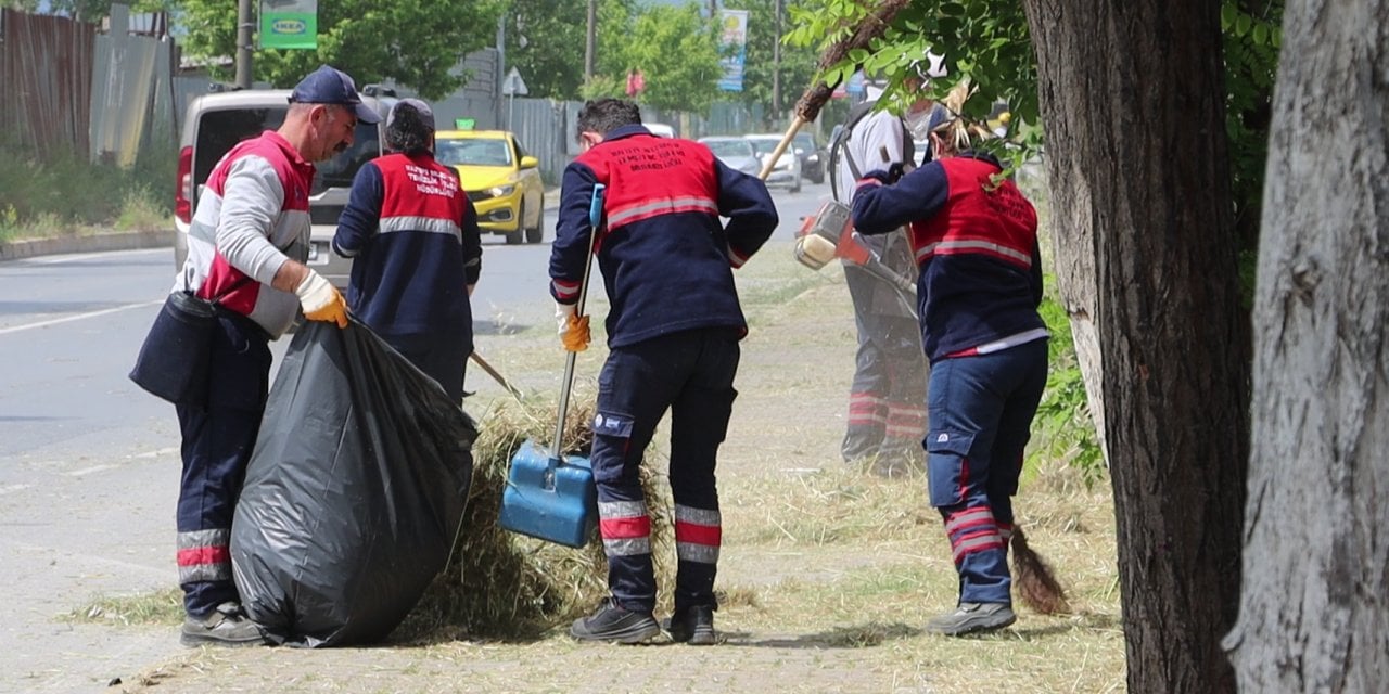
[[(188, 28), (183, 50), (189, 56), (235, 56), (235, 7), (226, 0), (176, 3), (181, 24)], [(251, 58), (253, 72), (258, 81), (289, 87), (326, 62), (358, 85), (390, 79), (424, 99), (443, 99), (469, 76), (458, 68), (463, 57), (493, 44), (504, 7), (506, 0), (319, 3), (318, 50), (258, 49)]]

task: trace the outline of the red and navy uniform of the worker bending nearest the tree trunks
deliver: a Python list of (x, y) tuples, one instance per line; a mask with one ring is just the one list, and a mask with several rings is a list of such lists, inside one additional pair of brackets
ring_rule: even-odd
[(911, 225), (917, 310), (931, 359), (926, 466), (960, 572), (961, 602), (1011, 604), (1013, 496), (1046, 387), (1047, 330), (1032, 204), (988, 154), (933, 161), (854, 193), (864, 233)]

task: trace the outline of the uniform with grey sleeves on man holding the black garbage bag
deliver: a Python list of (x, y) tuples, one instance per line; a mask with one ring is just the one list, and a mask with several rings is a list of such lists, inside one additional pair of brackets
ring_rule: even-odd
[(228, 543), (269, 393), (268, 343), (299, 315), (299, 298), (271, 282), (286, 260), (308, 257), (313, 180), (314, 165), (267, 130), (213, 168), (189, 226), (188, 260), (174, 290), (219, 305), (207, 403), (178, 405), (178, 573), (193, 616), (239, 601)]

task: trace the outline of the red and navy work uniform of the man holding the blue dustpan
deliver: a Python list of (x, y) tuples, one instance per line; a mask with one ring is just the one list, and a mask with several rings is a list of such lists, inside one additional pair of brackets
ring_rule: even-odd
[[(596, 183), (607, 186), (597, 232), (589, 223)], [(578, 301), (597, 233), (611, 305), (592, 454), (608, 587), (626, 609), (656, 607), (651, 520), (638, 472), (669, 409), (675, 609), (717, 608), (722, 525), (714, 468), (738, 396), (738, 341), (747, 333), (732, 269), (771, 236), (776, 208), (761, 180), (724, 167), (708, 147), (640, 125), (614, 129), (569, 164), (560, 205), (551, 294)]]

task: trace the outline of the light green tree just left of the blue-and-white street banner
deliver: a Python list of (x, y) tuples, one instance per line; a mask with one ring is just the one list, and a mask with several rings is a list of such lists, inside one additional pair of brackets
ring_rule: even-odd
[(653, 6), (632, 11), (631, 3), (600, 7), (599, 56), (585, 97), (626, 97), (626, 74), (640, 69), (646, 90), (638, 101), (661, 110), (704, 111), (718, 94), (718, 39), (699, 6)]

